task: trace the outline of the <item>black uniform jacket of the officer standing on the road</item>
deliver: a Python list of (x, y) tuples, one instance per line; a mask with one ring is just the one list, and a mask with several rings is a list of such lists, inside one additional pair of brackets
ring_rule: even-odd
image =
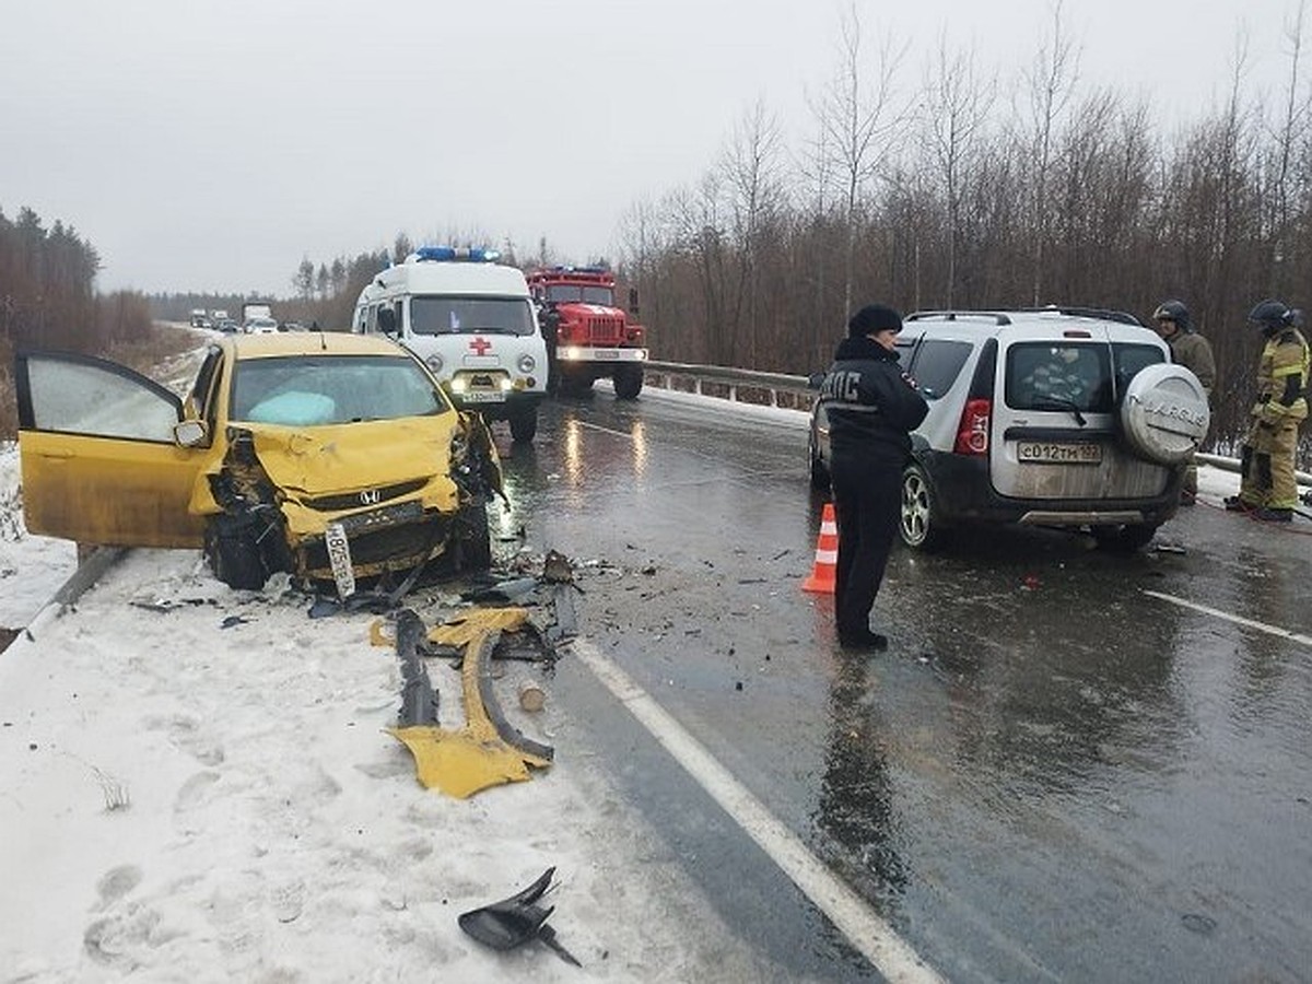
[(908, 434), (929, 404), (897, 365), (897, 353), (872, 338), (844, 338), (820, 388), (834, 459), (895, 464), (911, 455)]

